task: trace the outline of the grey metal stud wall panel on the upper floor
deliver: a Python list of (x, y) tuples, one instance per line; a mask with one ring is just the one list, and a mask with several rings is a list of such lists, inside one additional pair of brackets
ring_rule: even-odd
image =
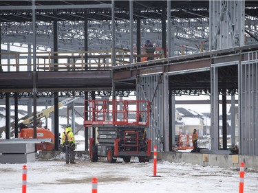
[(245, 1), (210, 1), (210, 50), (244, 45)]

